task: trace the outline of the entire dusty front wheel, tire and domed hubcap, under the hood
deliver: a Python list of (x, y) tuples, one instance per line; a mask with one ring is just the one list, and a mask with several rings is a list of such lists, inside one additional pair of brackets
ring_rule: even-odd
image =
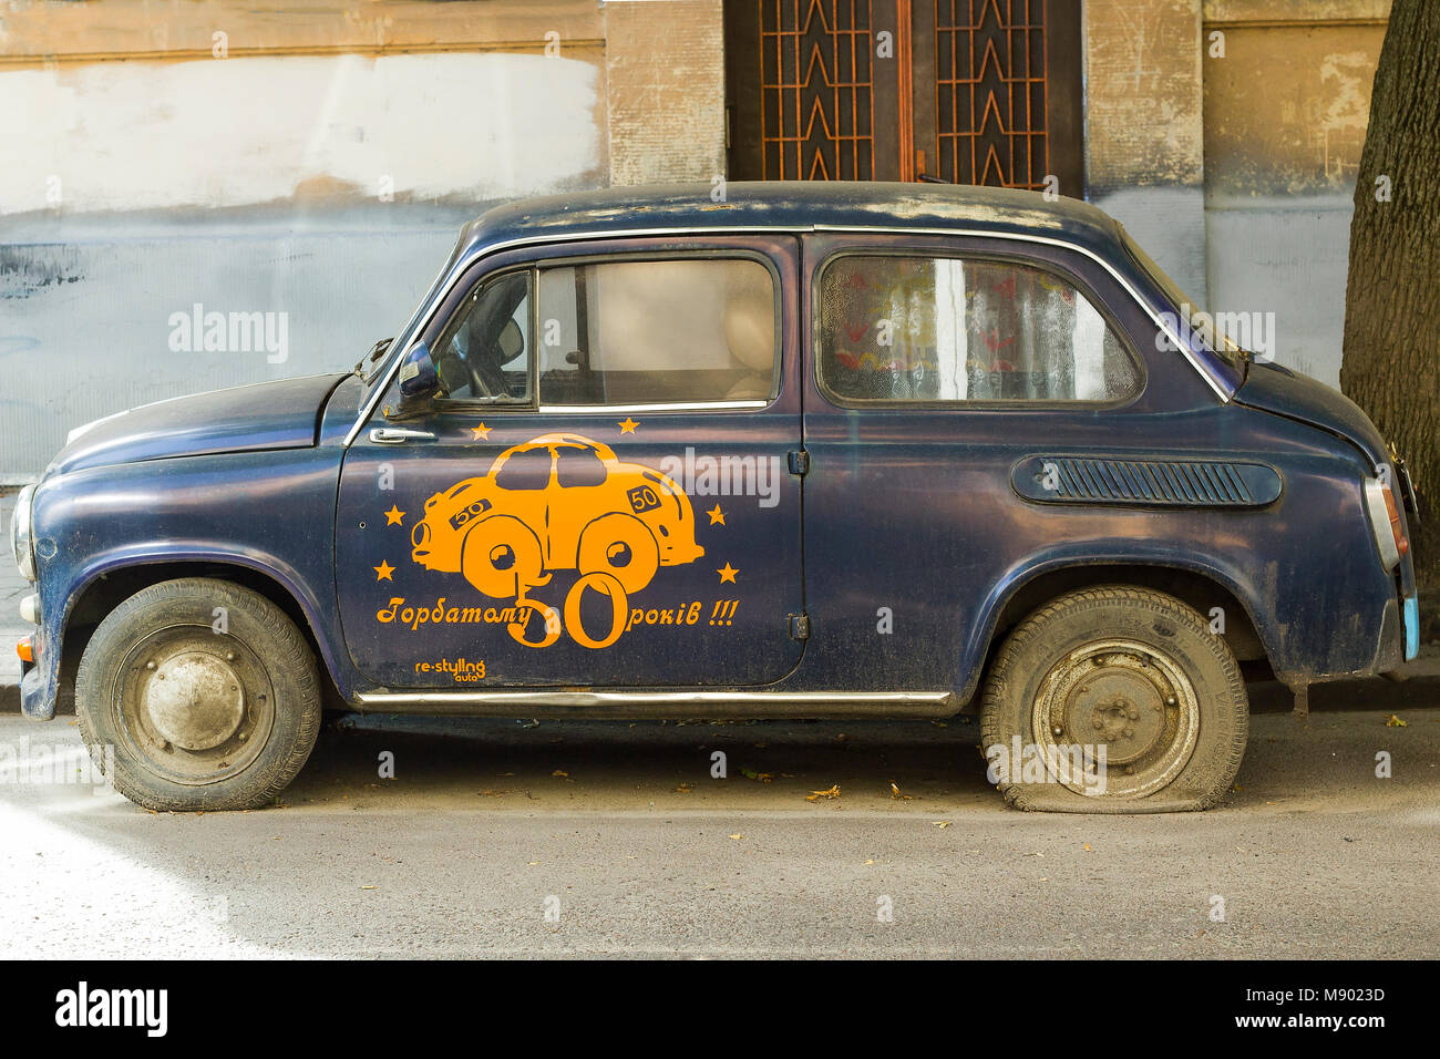
[(95, 630), (75, 677), (91, 758), (157, 811), (274, 803), (320, 732), (315, 656), (265, 596), (184, 578), (125, 599)]

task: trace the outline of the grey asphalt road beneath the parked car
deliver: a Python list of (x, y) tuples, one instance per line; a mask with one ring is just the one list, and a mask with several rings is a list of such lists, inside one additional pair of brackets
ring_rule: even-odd
[(384, 719), (281, 807), (157, 816), (0, 715), (0, 955), (1434, 957), (1437, 684), (1365, 687), (1169, 817), (1008, 810), (973, 723)]

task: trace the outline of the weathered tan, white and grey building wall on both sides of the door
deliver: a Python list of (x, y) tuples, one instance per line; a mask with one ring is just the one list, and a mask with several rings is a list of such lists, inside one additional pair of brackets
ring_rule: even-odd
[[(1332, 385), (1388, 6), (1083, 1), (1089, 197)], [(723, 55), (720, 0), (9, 4), (0, 483), (95, 416), (350, 366), (492, 202), (714, 179)], [(177, 343), (194, 305), (284, 314), (284, 356)]]

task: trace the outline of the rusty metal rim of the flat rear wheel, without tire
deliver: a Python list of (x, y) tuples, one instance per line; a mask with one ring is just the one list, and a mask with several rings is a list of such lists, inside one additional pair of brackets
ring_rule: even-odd
[(1200, 700), (1168, 653), (1133, 640), (1087, 644), (1045, 674), (1031, 736), (1053, 781), (1077, 794), (1138, 798), (1189, 762)]

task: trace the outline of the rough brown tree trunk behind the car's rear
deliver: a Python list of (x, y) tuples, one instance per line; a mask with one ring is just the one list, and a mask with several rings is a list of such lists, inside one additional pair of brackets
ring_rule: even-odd
[[(1390, 192), (1390, 200), (1384, 199)], [(1394, 0), (1355, 183), (1341, 389), (1410, 465), (1440, 589), (1440, 1)]]

